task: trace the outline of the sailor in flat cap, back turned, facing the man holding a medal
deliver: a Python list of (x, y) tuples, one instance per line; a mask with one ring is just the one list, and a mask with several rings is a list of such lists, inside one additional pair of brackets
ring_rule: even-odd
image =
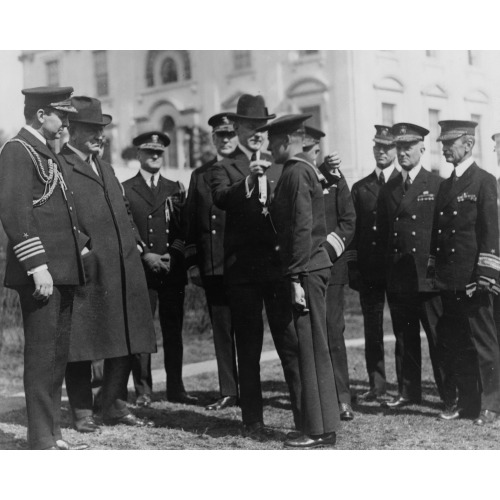
[(323, 187), (316, 167), (303, 153), (304, 121), (311, 115), (285, 115), (260, 130), (269, 133), (269, 150), (283, 165), (271, 205), (282, 272), (299, 340), (302, 386), (301, 433), (285, 446), (332, 446), (340, 425), (335, 375), (328, 349), (326, 290), (331, 261), (325, 248)]

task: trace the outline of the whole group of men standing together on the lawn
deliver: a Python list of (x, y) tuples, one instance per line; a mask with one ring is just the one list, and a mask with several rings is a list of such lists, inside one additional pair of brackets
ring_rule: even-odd
[[(72, 92), (23, 90), (26, 125), (0, 154), (5, 285), (19, 292), (23, 313), (30, 448), (86, 447), (62, 439), (64, 378), (78, 431), (101, 424), (96, 378), (104, 425), (154, 425), (131, 413), (127, 381), (132, 372), (136, 404), (151, 405), (157, 304), (167, 399), (196, 404), (182, 382), (187, 277), (204, 288), (213, 328), (220, 398), (206, 409), (239, 405), (246, 436), (270, 434), (260, 380), (264, 307), (295, 424), (285, 446), (333, 446), (340, 420), (354, 418), (347, 283), (364, 316), (370, 388), (360, 399), (392, 410), (421, 401), (422, 324), (440, 418), (483, 425), (500, 415), (497, 190), (471, 158), (476, 124), (441, 122), (455, 167), (445, 181), (422, 167), (426, 129), (377, 125), (375, 171), (351, 196), (337, 153), (318, 165), (325, 134), (307, 125), (310, 115), (276, 118), (261, 96), (245, 94), (236, 113), (210, 118), (217, 157), (193, 172), (186, 196), (160, 175), (170, 138), (159, 131), (133, 140), (141, 168), (120, 185), (101, 158), (112, 117)], [(56, 154), (51, 142), (65, 127), (69, 141)], [(262, 151), (266, 133), (271, 155)], [(396, 337), (392, 401), (383, 398), (386, 295)]]

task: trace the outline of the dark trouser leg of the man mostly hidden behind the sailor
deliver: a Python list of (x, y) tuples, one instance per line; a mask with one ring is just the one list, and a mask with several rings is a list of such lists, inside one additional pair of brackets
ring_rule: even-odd
[(344, 285), (328, 285), (326, 290), (326, 328), (339, 403), (351, 404), (349, 366), (344, 340)]

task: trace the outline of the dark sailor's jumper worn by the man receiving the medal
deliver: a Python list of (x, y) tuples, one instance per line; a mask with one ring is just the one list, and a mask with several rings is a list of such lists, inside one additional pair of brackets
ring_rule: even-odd
[(316, 167), (303, 153), (283, 165), (271, 216), (285, 276), (305, 276), (331, 267), (325, 248), (323, 187)]

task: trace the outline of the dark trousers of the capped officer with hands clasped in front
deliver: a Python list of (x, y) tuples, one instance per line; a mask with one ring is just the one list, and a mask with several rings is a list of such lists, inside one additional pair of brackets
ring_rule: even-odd
[[(182, 382), (182, 323), (184, 319), (184, 285), (167, 285), (149, 288), (149, 300), (153, 316), (158, 304), (161, 334), (163, 337), (163, 360), (167, 373), (167, 397), (185, 392)], [(151, 395), (151, 355), (134, 354), (132, 374), (137, 395)]]

